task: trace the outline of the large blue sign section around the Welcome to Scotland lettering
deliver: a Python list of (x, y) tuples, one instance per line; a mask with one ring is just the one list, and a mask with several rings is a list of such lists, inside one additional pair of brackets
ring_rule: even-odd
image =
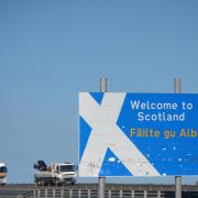
[[(141, 153), (153, 164), (153, 166), (162, 175), (198, 175), (198, 152), (195, 148), (198, 145), (198, 95), (174, 95), (174, 94), (128, 94), (118, 119), (117, 124), (122, 129), (124, 134), (132, 141)], [(155, 110), (155, 109), (136, 109), (132, 110), (131, 101), (142, 102), (175, 102), (182, 105), (193, 103), (193, 110), (182, 110), (178, 107), (176, 110)], [(184, 121), (140, 121), (138, 113), (142, 111), (147, 114), (158, 114), (161, 112), (182, 114), (185, 113)], [(130, 135), (131, 129), (133, 132), (142, 131), (150, 134), (150, 131), (158, 131), (160, 136), (138, 136)], [(196, 131), (196, 138), (182, 138), (180, 130), (185, 129), (187, 134), (191, 130)], [(165, 138), (165, 131), (170, 131), (173, 138)], [(154, 134), (154, 133), (153, 133)], [(174, 136), (175, 135), (175, 136)]]

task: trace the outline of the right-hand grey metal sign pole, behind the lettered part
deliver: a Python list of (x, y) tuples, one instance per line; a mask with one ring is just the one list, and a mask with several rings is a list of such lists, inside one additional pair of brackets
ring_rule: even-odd
[[(174, 92), (182, 92), (182, 79), (174, 79)], [(175, 198), (182, 198), (182, 176), (175, 176)]]

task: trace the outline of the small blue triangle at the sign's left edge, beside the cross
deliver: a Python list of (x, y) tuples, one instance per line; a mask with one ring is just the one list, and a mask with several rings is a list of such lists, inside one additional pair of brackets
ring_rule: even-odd
[(80, 160), (91, 132), (91, 128), (81, 117), (79, 117), (79, 129), (80, 129), (80, 136), (79, 136), (80, 138), (79, 160)]

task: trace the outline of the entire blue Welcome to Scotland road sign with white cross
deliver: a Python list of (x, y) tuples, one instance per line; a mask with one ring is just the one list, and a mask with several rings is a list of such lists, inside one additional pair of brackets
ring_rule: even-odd
[(198, 175), (197, 94), (79, 94), (79, 176)]

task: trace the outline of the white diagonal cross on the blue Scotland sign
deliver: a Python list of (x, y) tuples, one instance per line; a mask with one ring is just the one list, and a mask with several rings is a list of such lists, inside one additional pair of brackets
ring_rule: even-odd
[(160, 176), (139, 148), (117, 125), (125, 94), (106, 92), (101, 105), (87, 92), (79, 94), (79, 114), (91, 127), (79, 164), (79, 176), (99, 176), (110, 148), (133, 176)]

